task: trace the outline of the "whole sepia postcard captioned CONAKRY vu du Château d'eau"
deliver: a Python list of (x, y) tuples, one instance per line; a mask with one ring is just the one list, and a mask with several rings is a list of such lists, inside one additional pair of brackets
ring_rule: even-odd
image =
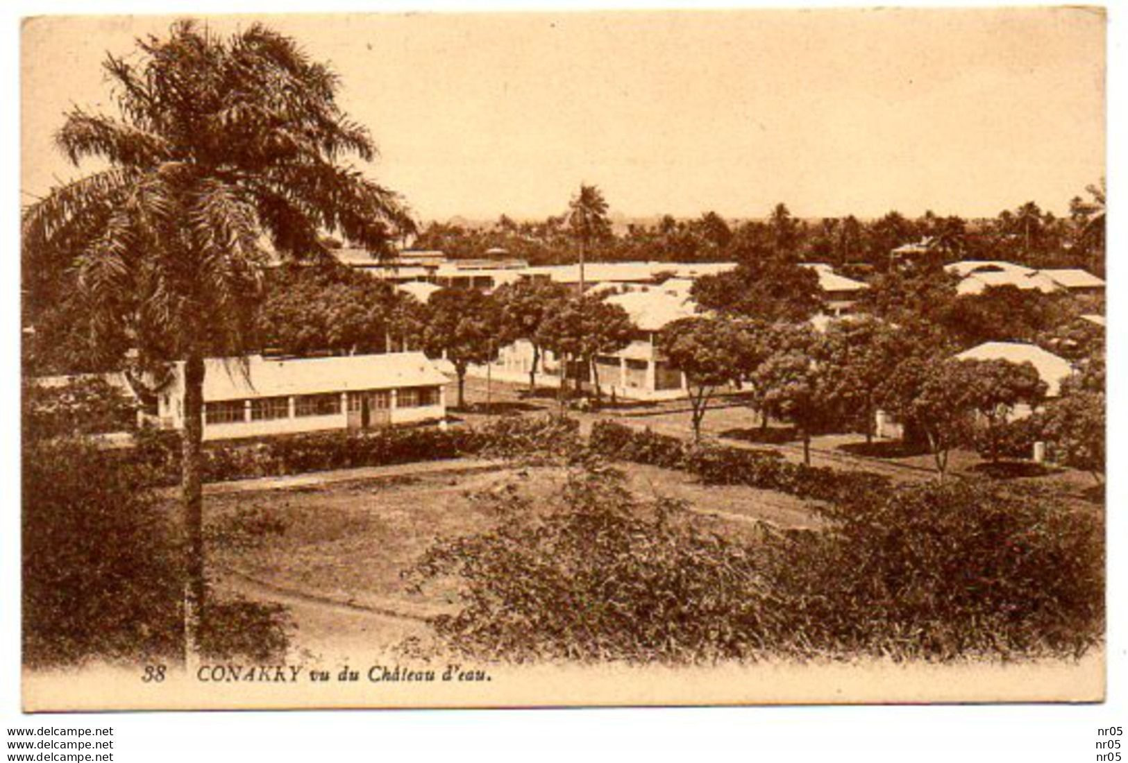
[(24, 18), (24, 711), (1102, 702), (1105, 24)]

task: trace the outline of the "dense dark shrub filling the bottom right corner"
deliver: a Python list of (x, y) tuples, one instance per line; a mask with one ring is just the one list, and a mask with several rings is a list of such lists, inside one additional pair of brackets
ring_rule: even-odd
[[(1103, 631), (1103, 530), (1046, 493), (919, 482), (858, 502), (791, 569), (837, 651), (1076, 656)], [(797, 560), (796, 560), (797, 561)]]

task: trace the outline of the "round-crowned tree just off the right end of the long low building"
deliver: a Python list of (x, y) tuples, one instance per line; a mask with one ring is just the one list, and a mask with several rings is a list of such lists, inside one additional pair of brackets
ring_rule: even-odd
[(458, 376), (458, 407), (466, 406), (466, 371), (497, 357), (499, 316), (494, 301), (472, 289), (441, 289), (422, 312), (418, 337), (424, 352), (443, 356)]

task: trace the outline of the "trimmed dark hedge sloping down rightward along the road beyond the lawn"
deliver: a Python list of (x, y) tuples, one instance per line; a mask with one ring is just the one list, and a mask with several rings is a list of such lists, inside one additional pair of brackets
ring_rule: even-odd
[(705, 485), (741, 485), (778, 490), (800, 498), (846, 504), (875, 490), (888, 490), (881, 474), (839, 471), (784, 461), (779, 453), (715, 444), (693, 445), (677, 437), (637, 431), (616, 422), (597, 422), (591, 447), (619, 461), (682, 469)]

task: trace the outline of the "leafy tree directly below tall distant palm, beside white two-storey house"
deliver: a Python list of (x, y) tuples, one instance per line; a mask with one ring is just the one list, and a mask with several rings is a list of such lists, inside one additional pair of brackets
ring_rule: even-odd
[[(561, 358), (565, 371), (570, 361), (581, 361), (592, 369), (598, 398), (599, 370), (594, 363), (596, 356), (619, 352), (631, 344), (634, 332), (635, 326), (626, 310), (605, 302), (597, 295), (584, 294), (567, 300), (558, 311), (548, 316), (540, 325), (537, 339), (543, 347)], [(565, 379), (562, 376), (562, 391), (564, 385)], [(579, 391), (580, 374), (576, 374), (575, 387)]]

